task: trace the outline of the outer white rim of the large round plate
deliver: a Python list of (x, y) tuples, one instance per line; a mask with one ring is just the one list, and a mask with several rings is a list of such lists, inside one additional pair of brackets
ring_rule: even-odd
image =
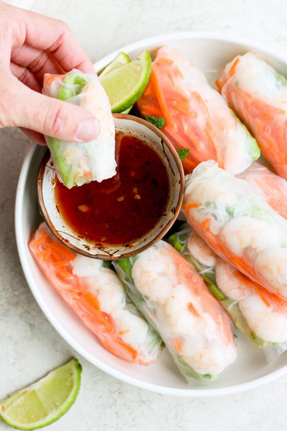
[[(108, 54), (107, 56), (103, 57), (99, 61), (97, 61), (94, 64), (94, 68), (96, 72), (99, 72), (101, 69), (103, 69), (109, 62), (111, 62), (117, 54), (119, 54), (121, 51), (131, 51), (135, 49), (139, 49), (141, 47), (145, 47), (147, 44), (152, 43), (161, 43), (167, 40), (173, 39), (174, 41), (178, 39), (197, 39), (197, 38), (207, 38), (207, 39), (215, 39), (219, 41), (228, 41), (238, 44), (246, 44), (252, 49), (260, 50), (263, 53), (275, 56), (277, 59), (280, 59), (282, 62), (287, 63), (287, 55), (278, 52), (277, 50), (274, 50), (272, 47), (265, 46), (264, 44), (261, 44), (257, 41), (250, 41), (249, 39), (241, 36), (236, 35), (230, 35), (225, 33), (217, 33), (217, 32), (210, 32), (210, 31), (181, 31), (181, 32), (174, 32), (174, 33), (167, 33), (167, 34), (161, 34), (158, 36), (148, 37), (145, 39), (141, 39), (139, 41), (133, 42), (131, 44), (128, 44), (124, 47), (121, 47), (117, 50), (114, 50), (112, 53)], [(117, 378), (125, 383), (132, 384), (133, 386), (139, 387), (141, 389), (150, 390), (152, 392), (158, 393), (158, 394), (166, 394), (166, 395), (175, 395), (175, 396), (184, 396), (184, 397), (213, 397), (218, 395), (228, 395), (228, 394), (235, 394), (242, 392), (244, 390), (252, 389), (255, 387), (259, 387), (262, 384), (271, 382), (275, 380), (276, 378), (279, 378), (285, 374), (287, 374), (287, 364), (282, 366), (281, 368), (268, 373), (267, 375), (264, 375), (262, 377), (256, 378), (254, 380), (235, 384), (230, 387), (223, 387), (223, 388), (212, 388), (209, 387), (208, 389), (194, 389), (190, 387), (186, 387), (186, 389), (183, 388), (173, 388), (173, 387), (165, 387), (160, 386), (153, 383), (144, 382), (142, 380), (139, 380), (138, 378), (131, 377), (123, 372), (115, 370), (113, 367), (106, 365), (101, 360), (97, 359), (95, 356), (93, 356), (91, 353), (87, 352), (80, 344), (77, 343), (77, 341), (74, 340), (73, 337), (71, 337), (70, 334), (68, 334), (67, 331), (62, 327), (62, 325), (58, 322), (58, 320), (52, 315), (52, 313), (49, 310), (49, 307), (46, 306), (46, 303), (44, 302), (43, 298), (41, 297), (39, 290), (37, 288), (37, 284), (34, 281), (33, 274), (31, 272), (31, 268), (28, 264), (28, 260), (26, 257), (26, 250), (25, 246), (27, 244), (24, 243), (22, 235), (21, 235), (21, 222), (22, 222), (22, 203), (23, 203), (23, 196), (24, 196), (24, 182), (27, 176), (28, 167), (30, 165), (31, 157), (33, 156), (34, 152), (36, 151), (37, 144), (34, 144), (31, 142), (30, 146), (28, 147), (28, 151), (25, 155), (25, 158), (22, 163), (19, 180), (17, 184), (17, 190), (16, 190), (16, 199), (15, 199), (15, 237), (16, 237), (16, 245), (17, 250), (19, 254), (20, 263), (22, 266), (22, 270), (25, 275), (25, 279), (27, 281), (27, 284), (37, 302), (37, 304), (40, 306), (40, 309), (46, 316), (46, 318), (49, 320), (49, 322), (52, 324), (52, 326), (56, 329), (56, 331), (64, 338), (64, 340), (79, 353), (81, 356), (83, 356), (86, 360), (88, 360), (93, 365), (96, 365), (99, 369), (106, 372), (107, 374), (113, 376), (114, 378)]]

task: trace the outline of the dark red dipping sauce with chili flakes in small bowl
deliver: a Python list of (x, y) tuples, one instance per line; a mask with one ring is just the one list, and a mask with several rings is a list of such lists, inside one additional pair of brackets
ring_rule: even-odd
[(115, 154), (113, 178), (71, 189), (56, 178), (55, 201), (78, 236), (96, 245), (129, 247), (164, 214), (169, 181), (160, 157), (144, 141), (117, 133)]

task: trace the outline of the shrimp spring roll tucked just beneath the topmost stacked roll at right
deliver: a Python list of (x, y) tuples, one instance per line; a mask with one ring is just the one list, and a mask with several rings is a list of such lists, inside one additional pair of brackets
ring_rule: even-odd
[(235, 326), (263, 350), (268, 362), (287, 350), (287, 301), (217, 256), (189, 226), (183, 225), (170, 243), (194, 265)]

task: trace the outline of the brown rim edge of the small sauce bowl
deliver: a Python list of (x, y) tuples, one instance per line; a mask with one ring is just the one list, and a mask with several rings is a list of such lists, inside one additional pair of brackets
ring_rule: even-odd
[[(158, 128), (156, 128), (154, 125), (152, 125), (148, 121), (146, 121), (146, 120), (144, 120), (142, 118), (139, 118), (139, 117), (135, 117), (133, 115), (128, 115), (128, 114), (113, 114), (113, 117), (117, 118), (117, 119), (127, 119), (127, 120), (131, 120), (131, 121), (135, 121), (137, 123), (140, 123), (140, 124), (144, 125), (145, 127), (149, 128), (151, 131), (153, 131), (155, 134), (157, 134), (157, 136), (160, 137), (160, 139), (164, 142), (164, 144), (166, 144), (166, 146), (170, 150), (170, 153), (172, 154), (172, 156), (173, 156), (173, 158), (174, 158), (174, 160), (176, 162), (176, 167), (179, 170), (179, 175), (180, 175), (179, 199), (178, 199), (177, 204), (176, 204), (176, 209), (175, 209), (173, 218), (170, 219), (169, 222), (167, 222), (167, 225), (156, 235), (156, 237), (154, 237), (154, 239), (150, 240), (148, 243), (145, 243), (142, 247), (140, 247), (140, 248), (138, 248), (138, 249), (136, 249), (134, 251), (130, 251), (128, 253), (124, 253), (124, 255), (123, 255), (124, 258), (128, 258), (128, 257), (135, 256), (136, 254), (142, 253), (143, 251), (147, 250), (148, 248), (150, 248), (151, 246), (153, 246), (154, 244), (156, 244), (157, 241), (159, 241), (162, 237), (164, 237), (164, 235), (170, 230), (170, 228), (172, 227), (173, 223), (176, 221), (177, 216), (179, 215), (179, 211), (180, 211), (181, 206), (182, 206), (183, 194), (184, 194), (185, 177), (184, 177), (182, 162), (180, 161), (180, 158), (179, 158), (178, 153), (176, 152), (176, 149), (173, 147), (173, 144), (170, 142), (170, 140)], [(49, 158), (50, 158), (50, 154), (49, 154), (49, 150), (47, 150), (46, 153), (44, 154), (41, 162), (40, 162), (40, 166), (39, 166), (39, 169), (38, 169), (38, 174), (37, 174), (37, 200), (38, 200), (38, 205), (39, 205), (40, 211), (41, 211), (41, 213), (43, 215), (43, 219), (45, 220), (45, 222), (48, 225), (48, 227), (51, 230), (51, 232), (63, 244), (65, 244), (66, 247), (70, 248), (74, 252), (79, 253), (79, 254), (81, 254), (83, 256), (91, 257), (92, 259), (118, 260), (119, 257), (113, 257), (111, 255), (107, 256), (107, 255), (102, 255), (102, 254), (91, 255), (88, 252), (85, 252), (84, 250), (80, 250), (78, 247), (74, 246), (70, 242), (67, 243), (65, 241), (65, 238), (62, 237), (62, 235), (58, 231), (56, 231), (54, 225), (51, 222), (49, 214), (46, 211), (46, 207), (44, 205), (44, 200), (43, 200), (43, 189), (42, 189), (42, 186), (43, 186), (43, 176), (44, 176), (44, 171), (45, 171), (46, 163), (48, 162)], [(168, 159), (168, 157), (167, 157), (167, 159)]]

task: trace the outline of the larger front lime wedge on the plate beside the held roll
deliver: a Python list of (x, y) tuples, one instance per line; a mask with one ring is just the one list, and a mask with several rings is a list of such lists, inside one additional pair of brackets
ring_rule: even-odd
[(111, 103), (111, 112), (123, 112), (141, 97), (151, 76), (151, 56), (148, 51), (125, 66), (100, 77)]

